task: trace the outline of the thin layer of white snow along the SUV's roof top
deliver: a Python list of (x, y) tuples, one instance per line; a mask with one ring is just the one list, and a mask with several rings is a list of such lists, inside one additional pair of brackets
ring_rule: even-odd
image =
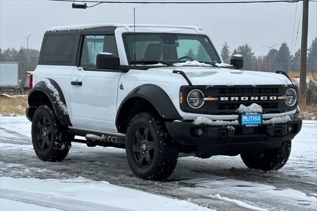
[[(119, 23), (93, 23), (93, 24), (82, 24), (82, 25), (69, 25), (69, 26), (56, 26), (51, 27), (47, 30), (47, 32), (60, 32), (60, 31), (80, 31), (84, 29), (94, 29), (94, 28), (102, 28), (102, 27), (125, 27), (130, 28), (134, 27), (133, 24), (119, 24)], [(135, 27), (164, 27), (164, 28), (185, 28), (185, 29), (194, 29), (197, 32), (199, 30), (203, 30), (198, 28), (197, 26), (177, 26), (177, 25), (149, 25), (149, 24), (136, 24)]]

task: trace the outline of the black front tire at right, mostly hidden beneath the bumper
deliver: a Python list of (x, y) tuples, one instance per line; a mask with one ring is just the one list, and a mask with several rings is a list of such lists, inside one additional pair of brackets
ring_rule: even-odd
[(275, 149), (256, 154), (242, 154), (241, 158), (249, 168), (260, 169), (264, 171), (281, 169), (287, 162), (291, 154), (292, 142), (283, 141)]

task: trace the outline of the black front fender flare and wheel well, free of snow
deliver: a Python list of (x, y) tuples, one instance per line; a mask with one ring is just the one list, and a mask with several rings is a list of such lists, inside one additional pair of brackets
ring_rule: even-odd
[(115, 119), (117, 130), (125, 133), (128, 117), (144, 111), (156, 112), (165, 120), (182, 119), (163, 89), (157, 85), (144, 84), (134, 88), (121, 102)]

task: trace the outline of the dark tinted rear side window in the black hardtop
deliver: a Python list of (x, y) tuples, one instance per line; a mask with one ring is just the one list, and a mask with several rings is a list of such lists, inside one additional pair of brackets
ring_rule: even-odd
[(75, 35), (49, 35), (46, 38), (42, 55), (43, 62), (72, 61)]

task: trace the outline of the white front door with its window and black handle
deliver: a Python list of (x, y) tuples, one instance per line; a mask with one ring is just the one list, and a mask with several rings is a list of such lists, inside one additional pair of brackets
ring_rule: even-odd
[(69, 105), (73, 127), (117, 132), (116, 99), (120, 71), (96, 68), (98, 53), (118, 55), (114, 35), (83, 36), (80, 66), (72, 74)]

